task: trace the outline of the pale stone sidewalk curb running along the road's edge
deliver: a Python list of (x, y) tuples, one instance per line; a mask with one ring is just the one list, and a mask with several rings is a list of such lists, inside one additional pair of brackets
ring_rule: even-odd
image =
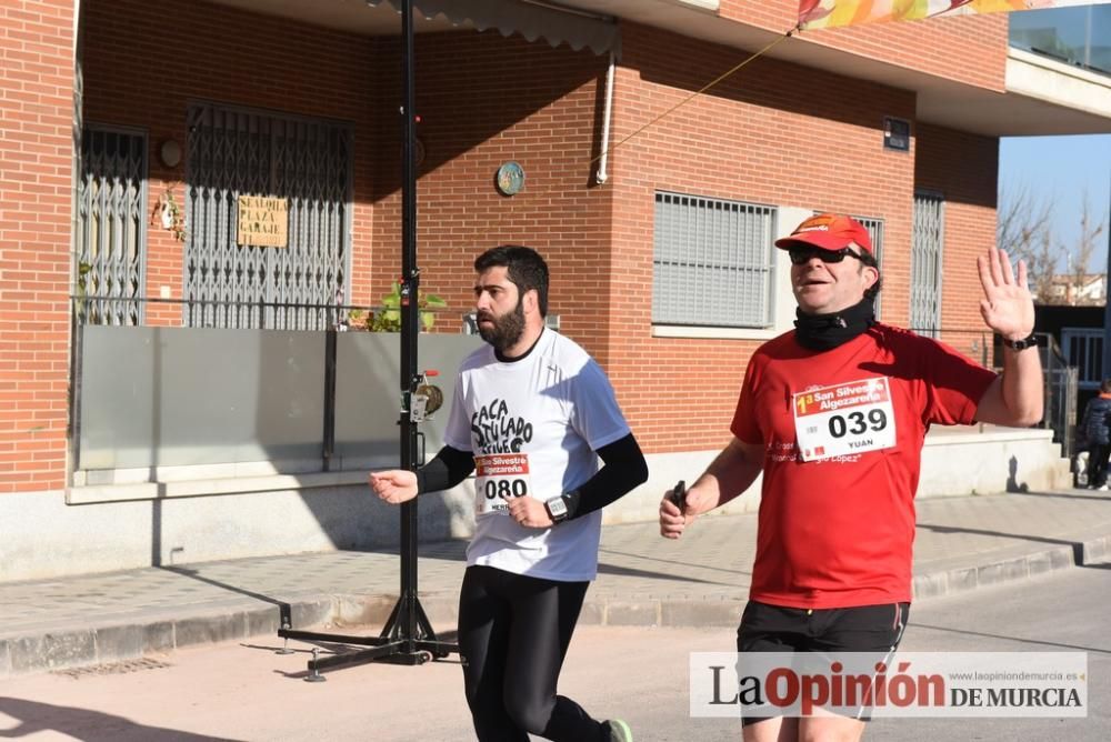
[[(1111, 535), (1062, 544), (1014, 559), (979, 566), (957, 568), (914, 576), (915, 600), (940, 598), (977, 590), (1038, 574), (1083, 566), (1111, 556)], [(740, 592), (740, 589), (738, 590)], [(429, 621), (443, 630), (454, 628), (457, 595), (433, 592), (421, 595)], [(292, 626), (381, 625), (397, 602), (396, 595), (332, 594), (304, 596), (284, 603)], [(744, 599), (725, 596), (649, 596), (630, 595), (588, 598), (580, 623), (607, 626), (735, 626)], [(88, 665), (138, 660), (151, 653), (167, 653), (188, 646), (223, 641), (266, 639), (278, 649), (280, 608), (276, 605), (233, 605), (228, 610), (174, 619), (160, 615), (146, 622), (90, 628), (87, 630), (47, 631), (42, 634), (0, 639), (0, 680), (34, 672), (50, 672)]]

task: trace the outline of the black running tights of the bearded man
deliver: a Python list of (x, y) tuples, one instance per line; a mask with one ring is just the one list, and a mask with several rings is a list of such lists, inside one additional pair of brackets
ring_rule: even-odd
[(479, 742), (609, 740), (609, 726), (556, 695), (589, 582), (469, 566), (459, 593), (459, 652)]

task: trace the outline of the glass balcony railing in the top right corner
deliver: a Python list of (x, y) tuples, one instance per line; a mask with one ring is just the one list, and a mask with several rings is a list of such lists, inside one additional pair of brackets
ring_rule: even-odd
[(1111, 74), (1111, 6), (1011, 13), (1011, 46)]

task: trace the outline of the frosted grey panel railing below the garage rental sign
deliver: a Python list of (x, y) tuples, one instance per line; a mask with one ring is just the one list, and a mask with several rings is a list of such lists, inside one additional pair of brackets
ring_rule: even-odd
[[(327, 311), (328, 330), (180, 327), (186, 302), (173, 300), (74, 297), (74, 315), (89, 311), (86, 319), (96, 319), (90, 308), (113, 301), (157, 303), (176, 310), (178, 323), (76, 324), (76, 484), (397, 465), (399, 333), (336, 331), (347, 328), (334, 318), (351, 308), (331, 305), (271, 303), (260, 313)], [(440, 328), (459, 328), (442, 319)], [(456, 370), (481, 342), (457, 333), (421, 335), (418, 368), (444, 374), (448, 404), (422, 429), (431, 451), (442, 444)]]

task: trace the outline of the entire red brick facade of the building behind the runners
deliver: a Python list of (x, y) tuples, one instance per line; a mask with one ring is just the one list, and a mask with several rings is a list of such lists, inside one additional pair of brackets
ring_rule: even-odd
[[(780, 4), (723, 1), (722, 14), (774, 29), (790, 3)], [(9, 492), (66, 482), (72, 271), (72, 3), (17, 6), (0, 9), (0, 491)], [(184, 200), (184, 166), (167, 169), (156, 154), (166, 139), (187, 140), (191, 101), (350, 122), (350, 301), (374, 303), (387, 290), (400, 263), (396, 41), (184, 0), (88, 0), (81, 26), (84, 119), (148, 131), (148, 210), (173, 183)], [(930, 28), (925, 36), (891, 24), (828, 38), (967, 84), (1000, 86), (1005, 22)], [(958, 41), (961, 53), (935, 54), (937, 44)], [(739, 60), (735, 49), (634, 23), (622, 23), (622, 49), (611, 143)], [(718, 447), (758, 344), (652, 335), (657, 190), (882, 219), (884, 319), (899, 324), (909, 318), (913, 192), (942, 192), (943, 322), (979, 321), (968, 263), (992, 243), (997, 141), (917, 126), (910, 152), (884, 150), (883, 117), (913, 120), (912, 92), (761, 59), (613, 151), (610, 180), (598, 186), (604, 56), (469, 31), (420, 34), (417, 56), (424, 289), (462, 312), (480, 250), (503, 242), (540, 249), (553, 269), (550, 310), (608, 368), (650, 452)], [(512, 198), (493, 187), (507, 160), (526, 171), (526, 188)], [(180, 297), (182, 243), (154, 227), (148, 238), (148, 294), (169, 287)], [(176, 312), (151, 309), (148, 321), (177, 322)]]

